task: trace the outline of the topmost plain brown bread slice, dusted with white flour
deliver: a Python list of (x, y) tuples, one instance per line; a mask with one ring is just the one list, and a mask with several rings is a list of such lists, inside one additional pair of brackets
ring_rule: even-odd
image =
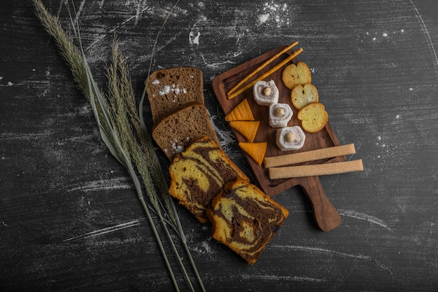
[(150, 74), (146, 92), (154, 125), (170, 111), (188, 102), (204, 104), (202, 71), (193, 67), (157, 70)]

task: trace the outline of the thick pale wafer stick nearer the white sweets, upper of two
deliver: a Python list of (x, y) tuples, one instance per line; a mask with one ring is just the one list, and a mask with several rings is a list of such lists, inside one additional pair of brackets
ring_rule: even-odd
[(294, 165), (300, 162), (332, 158), (332, 157), (354, 154), (354, 153), (356, 153), (354, 144), (333, 146), (333, 147), (321, 148), (311, 151), (267, 157), (264, 158), (264, 167)]

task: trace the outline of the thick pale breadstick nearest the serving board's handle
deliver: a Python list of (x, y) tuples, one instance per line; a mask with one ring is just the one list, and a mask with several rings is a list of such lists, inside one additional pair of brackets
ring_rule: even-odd
[(299, 165), (269, 168), (269, 179), (290, 179), (304, 176), (320, 176), (360, 172), (363, 170), (362, 159), (345, 162), (323, 163), (318, 165)]

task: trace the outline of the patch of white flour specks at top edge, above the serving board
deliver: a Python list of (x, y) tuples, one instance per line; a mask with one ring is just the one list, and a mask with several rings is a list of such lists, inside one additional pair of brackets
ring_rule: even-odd
[(289, 25), (289, 6), (288, 4), (279, 4), (276, 1), (268, 1), (262, 4), (260, 15), (258, 16), (260, 24), (275, 23), (277, 27)]

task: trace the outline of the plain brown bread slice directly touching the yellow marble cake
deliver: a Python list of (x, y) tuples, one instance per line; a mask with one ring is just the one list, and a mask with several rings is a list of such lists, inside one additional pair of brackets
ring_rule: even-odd
[(170, 161), (195, 139), (204, 136), (220, 145), (204, 104), (189, 102), (157, 121), (152, 137)]

